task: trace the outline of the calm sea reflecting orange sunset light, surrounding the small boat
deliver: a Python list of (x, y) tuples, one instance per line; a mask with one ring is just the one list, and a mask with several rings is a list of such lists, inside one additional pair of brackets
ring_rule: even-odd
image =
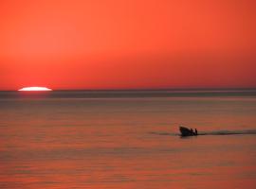
[(1, 189), (255, 187), (254, 90), (0, 93)]

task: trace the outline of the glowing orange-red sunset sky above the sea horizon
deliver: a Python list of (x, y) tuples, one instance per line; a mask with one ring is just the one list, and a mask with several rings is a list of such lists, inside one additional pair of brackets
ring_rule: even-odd
[(1, 0), (0, 90), (256, 87), (254, 0)]

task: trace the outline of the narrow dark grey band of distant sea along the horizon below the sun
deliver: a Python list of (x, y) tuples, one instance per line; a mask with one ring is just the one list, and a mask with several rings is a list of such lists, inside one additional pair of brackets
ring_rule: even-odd
[(2, 91), (0, 98), (148, 98), (256, 96), (256, 89)]

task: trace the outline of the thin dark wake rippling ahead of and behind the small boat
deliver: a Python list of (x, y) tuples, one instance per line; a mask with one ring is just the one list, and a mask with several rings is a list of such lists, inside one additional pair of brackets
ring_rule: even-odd
[[(180, 136), (180, 133), (172, 132), (149, 132), (150, 134), (155, 135), (167, 135), (167, 136)], [(256, 129), (247, 129), (247, 130), (213, 130), (213, 131), (198, 131), (198, 135), (254, 135), (256, 134)]]

